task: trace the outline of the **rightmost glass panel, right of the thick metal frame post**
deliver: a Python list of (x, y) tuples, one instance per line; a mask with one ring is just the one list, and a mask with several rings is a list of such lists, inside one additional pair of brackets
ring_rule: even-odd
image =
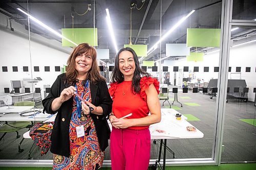
[(255, 30), (239, 26), (231, 31), (222, 162), (256, 160)]

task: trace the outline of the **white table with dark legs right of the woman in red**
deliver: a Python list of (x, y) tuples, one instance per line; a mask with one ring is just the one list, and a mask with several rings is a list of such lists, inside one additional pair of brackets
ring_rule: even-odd
[[(167, 139), (187, 139), (187, 138), (203, 138), (204, 134), (196, 128), (196, 131), (187, 131), (187, 126), (193, 126), (186, 121), (186, 117), (182, 117), (181, 120), (177, 120), (175, 114), (179, 113), (174, 109), (161, 109), (161, 122), (151, 125), (151, 139), (161, 139), (160, 150), (157, 163), (160, 163), (162, 145), (164, 145), (163, 153), (163, 170), (165, 169), (165, 160), (166, 160), (166, 148), (167, 148)], [(193, 126), (194, 127), (194, 126)], [(158, 130), (158, 131), (156, 131)], [(159, 130), (163, 131), (159, 133)], [(164, 142), (163, 142), (164, 140)]]

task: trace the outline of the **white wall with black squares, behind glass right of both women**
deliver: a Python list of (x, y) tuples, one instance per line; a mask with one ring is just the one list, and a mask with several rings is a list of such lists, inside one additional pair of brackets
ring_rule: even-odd
[[(193, 70), (194, 66), (199, 66), (196, 78), (204, 79), (204, 81), (208, 82), (212, 78), (218, 78), (218, 72), (214, 72), (214, 67), (219, 66), (219, 51), (205, 55), (202, 62), (188, 62), (184, 57), (181, 60), (165, 60), (162, 66), (169, 66), (171, 84), (174, 81), (173, 66), (179, 66), (179, 69), (183, 69), (183, 66), (188, 66), (189, 70)], [(209, 72), (204, 72), (204, 67), (209, 67)], [(253, 93), (253, 88), (256, 87), (256, 42), (231, 47), (229, 67), (231, 67), (231, 72), (228, 74), (228, 79), (230, 79), (230, 73), (236, 72), (236, 67), (241, 67), (241, 79), (245, 79), (249, 88), (248, 99), (249, 101), (254, 101), (255, 93)], [(245, 72), (246, 67), (251, 67), (251, 71)], [(188, 73), (184, 72), (184, 77), (188, 77), (185, 74)], [(179, 73), (177, 72), (178, 75)], [(240, 79), (240, 74), (231, 74), (231, 79)]]

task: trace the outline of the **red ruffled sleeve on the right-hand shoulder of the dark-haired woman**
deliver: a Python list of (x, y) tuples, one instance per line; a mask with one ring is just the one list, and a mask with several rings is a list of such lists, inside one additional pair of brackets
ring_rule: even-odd
[(157, 93), (159, 94), (159, 82), (157, 79), (153, 79), (151, 77), (142, 77), (140, 79), (140, 96), (144, 101), (146, 101), (146, 89), (153, 84), (157, 90)]

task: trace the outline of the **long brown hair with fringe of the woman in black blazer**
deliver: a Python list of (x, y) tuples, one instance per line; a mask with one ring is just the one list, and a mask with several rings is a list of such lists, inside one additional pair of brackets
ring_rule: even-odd
[(72, 54), (70, 55), (68, 61), (67, 61), (67, 72), (66, 72), (66, 78), (68, 84), (74, 84), (76, 82), (76, 77), (78, 75), (77, 70), (75, 69), (75, 59), (78, 54), (90, 54), (92, 56), (92, 68), (89, 70), (87, 74), (87, 78), (92, 81), (93, 83), (97, 83), (100, 80), (105, 80), (100, 74), (99, 74), (99, 66), (97, 64), (97, 53), (93, 46), (89, 45), (88, 43), (81, 43), (77, 47), (74, 48)]

